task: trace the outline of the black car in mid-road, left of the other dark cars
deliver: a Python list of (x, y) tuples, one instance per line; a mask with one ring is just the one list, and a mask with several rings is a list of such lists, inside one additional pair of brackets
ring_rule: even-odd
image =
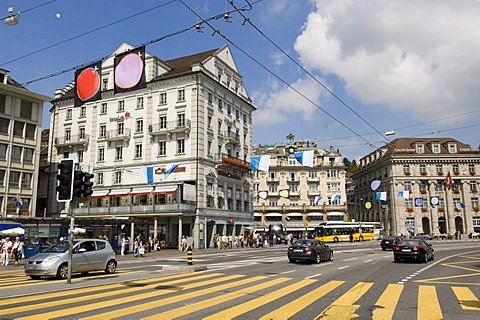
[(322, 241), (314, 239), (296, 240), (288, 247), (288, 261), (297, 260), (313, 261), (320, 263), (325, 260), (333, 260), (333, 250)]

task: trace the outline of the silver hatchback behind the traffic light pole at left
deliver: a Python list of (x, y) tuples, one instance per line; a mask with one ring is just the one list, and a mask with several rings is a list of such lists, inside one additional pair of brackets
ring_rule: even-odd
[[(68, 276), (68, 241), (48, 247), (25, 262), (25, 274), (32, 279), (53, 276), (66, 279)], [(110, 243), (100, 239), (73, 240), (72, 273), (87, 274), (105, 270), (115, 273), (117, 259)]]

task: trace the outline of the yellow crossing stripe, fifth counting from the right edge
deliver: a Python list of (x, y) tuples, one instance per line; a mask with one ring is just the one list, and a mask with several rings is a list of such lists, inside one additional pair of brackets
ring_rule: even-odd
[(330, 281), (324, 284), (321, 287), (318, 287), (300, 298), (293, 300), (292, 302), (287, 303), (283, 307), (276, 309), (275, 311), (270, 312), (269, 314), (264, 315), (261, 320), (284, 320), (292, 317), (297, 312), (303, 310), (304, 308), (308, 307), (318, 299), (322, 298), (330, 291), (336, 289), (340, 285), (345, 283), (345, 281)]

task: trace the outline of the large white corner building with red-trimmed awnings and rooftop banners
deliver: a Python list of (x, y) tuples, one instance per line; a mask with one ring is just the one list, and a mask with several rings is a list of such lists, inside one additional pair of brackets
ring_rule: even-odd
[(146, 88), (114, 93), (113, 56), (130, 49), (124, 43), (103, 61), (101, 100), (75, 108), (73, 86), (53, 100), (52, 158), (94, 174), (91, 200), (75, 208), (79, 224), (113, 240), (143, 234), (178, 246), (192, 236), (197, 248), (216, 233), (243, 232), (253, 222), (255, 108), (230, 49), (168, 61), (147, 53)]

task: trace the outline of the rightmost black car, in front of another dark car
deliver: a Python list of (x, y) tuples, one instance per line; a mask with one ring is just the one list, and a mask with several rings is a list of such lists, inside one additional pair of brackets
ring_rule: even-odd
[(424, 239), (405, 239), (397, 243), (393, 248), (393, 259), (399, 262), (401, 259), (414, 259), (427, 263), (433, 260), (435, 251), (431, 244)]

